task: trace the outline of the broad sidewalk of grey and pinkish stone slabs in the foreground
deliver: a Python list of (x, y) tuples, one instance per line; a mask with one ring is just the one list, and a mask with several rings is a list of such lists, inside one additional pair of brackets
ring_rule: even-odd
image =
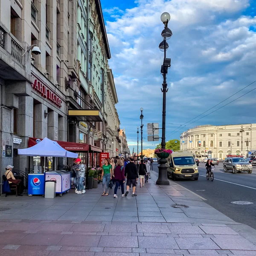
[[(154, 172), (153, 172), (154, 173)], [(152, 173), (138, 196), (101, 196), (102, 186), (61, 198), (0, 197), (1, 256), (256, 255), (256, 230)], [(196, 182), (195, 182), (196, 186)], [(189, 208), (173, 208), (174, 204)]]

